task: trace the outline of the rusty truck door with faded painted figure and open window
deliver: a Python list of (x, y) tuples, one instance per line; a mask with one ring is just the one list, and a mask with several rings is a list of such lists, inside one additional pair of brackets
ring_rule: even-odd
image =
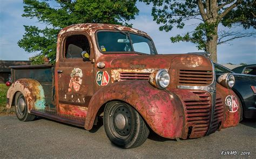
[[(93, 66), (89, 59), (83, 59), (82, 52), (93, 57), (89, 35), (71, 34), (64, 37), (60, 49), (58, 74), (58, 111), (61, 114), (85, 117), (86, 107), (93, 95)], [(80, 113), (79, 113), (80, 112)]]

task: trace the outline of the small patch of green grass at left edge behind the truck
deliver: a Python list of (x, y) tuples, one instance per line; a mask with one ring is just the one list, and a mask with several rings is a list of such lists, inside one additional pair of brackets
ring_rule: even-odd
[(14, 109), (6, 109), (6, 93), (9, 87), (0, 84), (0, 115), (14, 114)]

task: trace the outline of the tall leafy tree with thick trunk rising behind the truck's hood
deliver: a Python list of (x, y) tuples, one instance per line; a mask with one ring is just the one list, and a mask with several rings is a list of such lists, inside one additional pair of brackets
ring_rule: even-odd
[[(232, 31), (235, 26), (245, 29), (256, 28), (256, 2), (255, 0), (140, 0), (147, 4), (152, 3), (152, 16), (160, 31), (169, 32), (174, 26), (184, 28), (185, 21), (195, 20), (196, 28), (184, 35), (171, 37), (171, 42), (186, 41), (197, 45), (198, 49), (204, 49), (211, 54), (214, 62), (217, 62), (217, 45), (228, 41), (255, 36), (255, 31)], [(229, 31), (218, 30), (223, 25)]]

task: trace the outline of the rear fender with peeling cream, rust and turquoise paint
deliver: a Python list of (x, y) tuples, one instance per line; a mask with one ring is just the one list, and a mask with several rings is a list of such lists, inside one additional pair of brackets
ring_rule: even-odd
[(28, 112), (30, 110), (41, 110), (45, 108), (45, 96), (43, 86), (35, 79), (21, 78), (11, 85), (7, 92), (9, 104), (7, 108), (11, 108), (14, 103), (15, 95), (17, 92), (22, 92), (28, 105)]

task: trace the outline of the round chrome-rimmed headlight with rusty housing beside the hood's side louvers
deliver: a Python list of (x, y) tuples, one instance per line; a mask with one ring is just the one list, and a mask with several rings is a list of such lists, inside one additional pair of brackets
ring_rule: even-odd
[(160, 69), (150, 75), (150, 84), (158, 89), (166, 88), (170, 83), (169, 73), (165, 69)]

